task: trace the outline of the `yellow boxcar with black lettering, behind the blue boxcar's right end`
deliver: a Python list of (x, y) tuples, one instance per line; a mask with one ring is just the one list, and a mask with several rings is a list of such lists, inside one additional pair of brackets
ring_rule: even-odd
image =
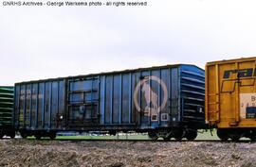
[(208, 62), (206, 121), (222, 141), (256, 140), (256, 57)]

